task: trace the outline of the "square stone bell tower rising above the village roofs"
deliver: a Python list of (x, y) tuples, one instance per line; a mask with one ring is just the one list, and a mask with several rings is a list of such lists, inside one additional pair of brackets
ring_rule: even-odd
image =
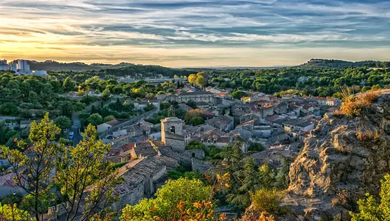
[(184, 151), (183, 119), (167, 117), (161, 119), (161, 141), (171, 146), (174, 151)]

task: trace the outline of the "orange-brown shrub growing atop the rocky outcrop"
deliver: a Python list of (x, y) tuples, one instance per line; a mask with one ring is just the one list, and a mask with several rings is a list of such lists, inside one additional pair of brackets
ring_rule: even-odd
[(340, 106), (338, 114), (346, 117), (354, 117), (360, 115), (363, 109), (369, 108), (371, 104), (378, 98), (379, 93), (364, 93), (362, 95), (349, 95), (344, 99)]

